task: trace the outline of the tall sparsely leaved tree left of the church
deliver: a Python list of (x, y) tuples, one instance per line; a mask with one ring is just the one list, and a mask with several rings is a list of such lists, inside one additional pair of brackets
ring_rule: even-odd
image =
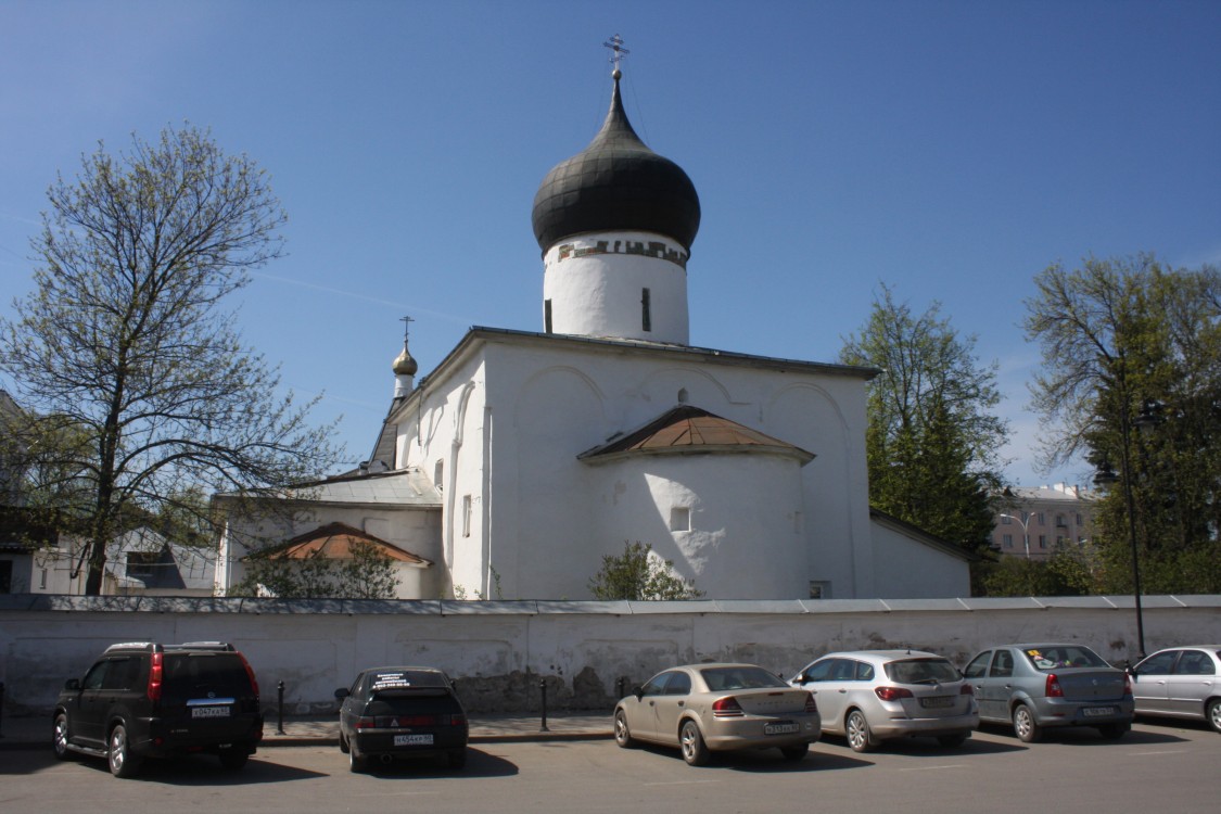
[(167, 128), (118, 156), (99, 145), (48, 198), (34, 292), (0, 320), (0, 370), (32, 416), (27, 449), (72, 481), (49, 494), (81, 530), (96, 594), (106, 543), (132, 522), (182, 511), (206, 525), (183, 495), (274, 494), (336, 450), (223, 308), (282, 250), (283, 211), (252, 160)]

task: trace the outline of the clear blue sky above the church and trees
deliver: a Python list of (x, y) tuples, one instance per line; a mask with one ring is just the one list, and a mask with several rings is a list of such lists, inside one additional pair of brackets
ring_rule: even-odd
[(615, 33), (703, 207), (692, 344), (834, 361), (880, 284), (937, 300), (1000, 365), (1009, 477), (1088, 483), (1033, 469), (1023, 300), (1055, 261), (1221, 262), (1216, 0), (0, 0), (0, 312), (57, 172), (210, 127), (289, 216), (243, 336), (360, 461), (400, 316), (421, 373), (473, 325), (541, 330), (530, 206), (606, 115)]

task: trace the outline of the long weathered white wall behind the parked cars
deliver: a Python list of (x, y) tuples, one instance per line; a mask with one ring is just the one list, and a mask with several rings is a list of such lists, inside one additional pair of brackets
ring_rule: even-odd
[[(1221, 643), (1221, 596), (1144, 597), (1145, 647)], [(691, 661), (733, 660), (785, 679), (830, 650), (911, 647), (958, 666), (1004, 642), (1082, 642), (1120, 664), (1137, 652), (1132, 597), (808, 602), (278, 600), (0, 597), (4, 715), (48, 714), (107, 644), (228, 641), (264, 708), (327, 714), (369, 666), (433, 665), (473, 713), (613, 707), (620, 685)]]

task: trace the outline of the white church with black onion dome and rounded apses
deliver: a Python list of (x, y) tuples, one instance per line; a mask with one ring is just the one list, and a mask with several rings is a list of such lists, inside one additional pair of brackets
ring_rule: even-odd
[(231, 514), (219, 594), (269, 541), (363, 541), (405, 599), (589, 599), (629, 542), (709, 599), (969, 596), (968, 554), (869, 508), (875, 371), (690, 345), (700, 199), (612, 77), (602, 128), (535, 195), (542, 330), (473, 327), (419, 378), (404, 339), (370, 460)]

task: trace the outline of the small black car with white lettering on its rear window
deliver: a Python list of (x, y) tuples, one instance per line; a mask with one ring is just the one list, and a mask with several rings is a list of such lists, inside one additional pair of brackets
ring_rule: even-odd
[(466, 764), (470, 730), (453, 681), (433, 668), (364, 670), (350, 687), (335, 691), (339, 707), (339, 751), (353, 771), (371, 759), (444, 757)]

